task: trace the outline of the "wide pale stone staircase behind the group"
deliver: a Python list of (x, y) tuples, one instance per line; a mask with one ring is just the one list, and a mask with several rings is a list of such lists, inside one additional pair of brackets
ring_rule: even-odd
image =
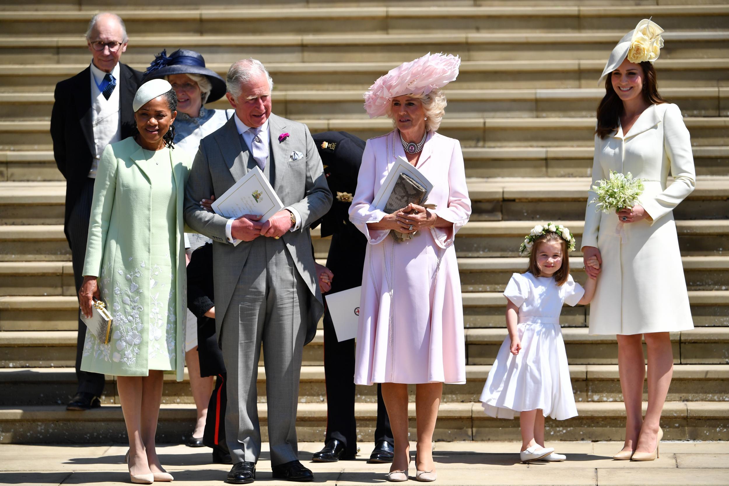
[[(188, 47), (224, 74), (233, 60), (253, 56), (276, 82), (277, 114), (312, 131), (362, 138), (391, 129), (388, 119), (370, 120), (362, 109), (374, 79), (428, 51), (461, 56), (440, 132), (464, 147), (474, 208), (456, 238), (467, 384), (445, 385), (437, 440), (518, 438), (518, 421), (488, 418), (477, 402), (506, 335), (501, 292), (511, 273), (526, 267), (518, 244), (534, 222), (564, 222), (579, 248), (594, 110), (603, 93), (596, 79), (617, 39), (652, 15), (668, 31), (656, 63), (661, 92), (684, 113), (698, 173), (695, 192), (675, 211), (695, 329), (671, 334), (675, 371), (663, 428), (666, 439), (726, 440), (729, 5), (713, 2), (255, 0), (246, 3), (260, 8), (241, 9), (237, 0), (213, 0), (201, 9), (199, 1), (177, 0), (179, 9), (160, 10), (128, 0), (118, 12), (130, 34), (125, 63), (144, 69), (163, 48)], [(75, 391), (77, 299), (63, 236), (66, 186), (48, 133), (55, 83), (89, 62), (81, 34), (88, 19), (118, 4), (0, 0), (0, 443), (126, 440), (114, 377), (107, 377), (101, 409), (63, 406)], [(325, 259), (328, 240), (318, 230), (313, 236), (317, 258)], [(584, 281), (579, 252), (572, 262)], [(588, 316), (582, 306), (562, 314), (580, 415), (547, 420), (547, 434), (620, 440), (617, 343), (588, 335)], [(305, 441), (321, 441), (326, 428), (322, 341), (319, 331), (304, 353), (298, 425)], [(375, 426), (374, 391), (357, 388), (363, 439)], [(259, 400), (265, 422), (262, 367)], [(177, 442), (195, 418), (187, 380), (166, 378), (163, 402), (158, 441)]]

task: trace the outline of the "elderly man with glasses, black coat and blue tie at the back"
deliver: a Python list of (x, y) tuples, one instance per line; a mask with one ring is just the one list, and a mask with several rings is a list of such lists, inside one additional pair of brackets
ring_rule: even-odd
[[(86, 31), (93, 60), (89, 67), (55, 86), (50, 119), (53, 157), (66, 178), (66, 217), (63, 231), (71, 247), (76, 292), (83, 281), (86, 237), (96, 168), (106, 145), (133, 135), (132, 100), (142, 74), (119, 62), (127, 49), (127, 31), (118, 15), (94, 15)], [(69, 410), (100, 407), (104, 375), (81, 370), (86, 326), (79, 319), (76, 354), (76, 396)]]

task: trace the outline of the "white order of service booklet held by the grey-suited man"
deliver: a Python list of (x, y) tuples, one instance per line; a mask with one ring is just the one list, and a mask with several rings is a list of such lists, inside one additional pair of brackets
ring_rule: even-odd
[[(230, 186), (211, 207), (220, 216), (239, 218), (244, 214), (261, 216), (262, 223), (284, 208), (270, 182), (260, 168), (254, 167)], [(240, 241), (238, 241), (240, 243)], [(238, 243), (235, 243), (237, 246)]]

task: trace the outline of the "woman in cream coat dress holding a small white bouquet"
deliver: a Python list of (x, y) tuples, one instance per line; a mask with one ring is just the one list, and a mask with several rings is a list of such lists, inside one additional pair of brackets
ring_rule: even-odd
[[(679, 107), (658, 94), (652, 60), (660, 27), (642, 20), (605, 66), (606, 95), (598, 108), (593, 185), (610, 171), (644, 180), (639, 204), (601, 213), (588, 203), (582, 252), (601, 259), (602, 275), (590, 305), (590, 334), (616, 334), (620, 386), (627, 423), (625, 444), (615, 459), (658, 457), (660, 413), (673, 372), (669, 332), (693, 329), (672, 210), (695, 187), (688, 130)], [(641, 39), (650, 49), (642, 55)], [(649, 58), (646, 59), (646, 56)], [(615, 128), (617, 127), (617, 128)], [(674, 181), (668, 184), (668, 173)], [(590, 190), (588, 200), (596, 197)], [(594, 272), (588, 269), (588, 272)], [(644, 337), (648, 349), (648, 407), (642, 418)]]

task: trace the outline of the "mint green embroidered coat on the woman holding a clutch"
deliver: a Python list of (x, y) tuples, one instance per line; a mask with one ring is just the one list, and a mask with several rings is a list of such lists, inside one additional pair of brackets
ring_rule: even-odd
[[(187, 152), (179, 149), (162, 149), (168, 155), (155, 153), (155, 160), (169, 160), (172, 166), (176, 197), (176, 211), (152, 208), (154, 184), (171, 184), (173, 178), (150, 178), (149, 167), (145, 170), (148, 155), (132, 137), (106, 146), (98, 165), (94, 185), (91, 219), (84, 264), (84, 275), (98, 276), (101, 298), (114, 315), (112, 339), (102, 344), (90, 332), (86, 333), (81, 369), (88, 372), (117, 376), (149, 375), (150, 350), (168, 356), (178, 381), (184, 374), (184, 332), (187, 313), (187, 279), (184, 245), (182, 244), (184, 220), (182, 204), (184, 187), (191, 160)], [(149, 154), (149, 152), (147, 152)], [(158, 159), (157, 157), (164, 157)], [(174, 221), (167, 213), (174, 214)], [(162, 218), (160, 222), (159, 218)], [(176, 230), (175, 253), (155, 254), (152, 248), (152, 232), (155, 224), (166, 224)], [(171, 244), (174, 240), (171, 240)], [(150, 344), (159, 337), (160, 330), (150, 326), (160, 310), (155, 308), (159, 297), (155, 272), (159, 268), (176, 269), (174, 289), (165, 290), (168, 305), (161, 309), (165, 315), (164, 343)], [(157, 270), (155, 270), (155, 268)], [(171, 277), (171, 275), (165, 275)], [(160, 279), (157, 278), (157, 281)], [(166, 336), (165, 336), (166, 334)], [(154, 354), (153, 354), (154, 356)], [(156, 369), (156, 368), (153, 368)]]

